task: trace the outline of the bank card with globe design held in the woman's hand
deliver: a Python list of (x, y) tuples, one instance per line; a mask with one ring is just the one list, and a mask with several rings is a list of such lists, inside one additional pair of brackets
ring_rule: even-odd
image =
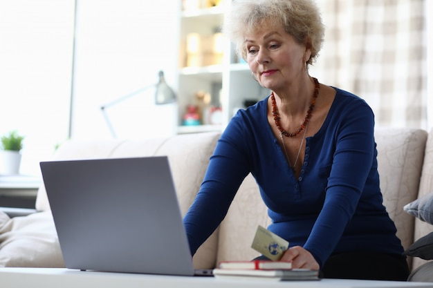
[(282, 258), (284, 251), (288, 249), (288, 241), (259, 225), (254, 240), (252, 240), (251, 248), (270, 260), (279, 260)]

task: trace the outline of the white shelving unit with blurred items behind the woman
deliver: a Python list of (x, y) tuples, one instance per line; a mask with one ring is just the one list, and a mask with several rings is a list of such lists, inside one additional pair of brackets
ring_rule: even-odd
[[(223, 57), (216, 65), (187, 66), (187, 36), (198, 33), (212, 37), (221, 28), (229, 0), (219, 6), (183, 10), (180, 19), (179, 69), (178, 69), (178, 133), (222, 131), (239, 108), (245, 108), (245, 100), (262, 99), (268, 91), (252, 79), (246, 63), (239, 63), (230, 41), (223, 37)], [(197, 104), (196, 93), (210, 93), (213, 106), (221, 108), (221, 123), (202, 119), (202, 125), (184, 126), (183, 115), (187, 106)]]

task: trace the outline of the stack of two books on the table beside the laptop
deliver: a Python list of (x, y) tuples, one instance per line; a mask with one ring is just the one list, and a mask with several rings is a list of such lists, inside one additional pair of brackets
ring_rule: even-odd
[(320, 280), (317, 270), (292, 269), (291, 262), (268, 260), (220, 262), (213, 274), (215, 278)]

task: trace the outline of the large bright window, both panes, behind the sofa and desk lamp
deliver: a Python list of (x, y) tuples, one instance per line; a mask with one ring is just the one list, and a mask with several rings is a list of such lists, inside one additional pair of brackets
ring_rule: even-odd
[[(22, 174), (39, 174), (39, 162), (70, 136), (111, 138), (100, 107), (156, 84), (159, 70), (176, 92), (180, 6), (0, 0), (0, 135), (26, 136)], [(176, 124), (176, 108), (154, 106), (154, 92), (107, 109), (119, 137), (154, 137)]]

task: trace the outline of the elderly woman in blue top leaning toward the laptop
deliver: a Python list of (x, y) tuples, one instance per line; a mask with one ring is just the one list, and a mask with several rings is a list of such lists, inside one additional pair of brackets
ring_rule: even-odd
[(192, 254), (252, 173), (273, 220), (268, 230), (290, 242), (281, 260), (324, 278), (406, 280), (379, 187), (374, 114), (356, 95), (308, 74), (324, 39), (317, 6), (237, 0), (231, 8), (224, 32), (271, 92), (238, 111), (216, 145), (184, 218)]

